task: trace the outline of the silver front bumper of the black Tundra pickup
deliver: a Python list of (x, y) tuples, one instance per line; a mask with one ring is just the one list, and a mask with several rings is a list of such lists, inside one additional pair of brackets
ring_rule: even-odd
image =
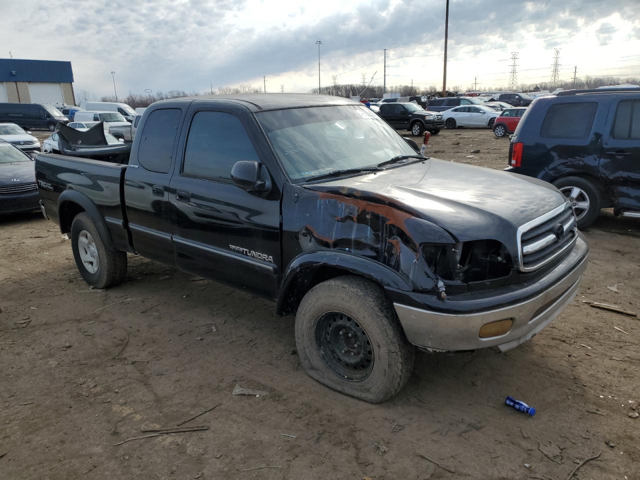
[[(470, 314), (435, 312), (399, 303), (394, 303), (394, 307), (404, 333), (414, 345), (443, 351), (487, 347), (506, 351), (531, 339), (564, 310), (577, 294), (580, 277), (587, 264), (588, 257), (585, 255), (566, 275), (540, 294), (508, 307)], [(557, 268), (563, 268), (563, 264)], [(499, 337), (479, 337), (480, 328), (484, 324), (502, 319), (513, 320), (509, 332)]]

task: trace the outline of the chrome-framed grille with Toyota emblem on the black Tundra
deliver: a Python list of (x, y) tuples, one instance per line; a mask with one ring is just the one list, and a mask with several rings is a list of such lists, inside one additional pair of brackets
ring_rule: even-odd
[(520, 270), (532, 271), (557, 259), (578, 237), (575, 214), (567, 202), (518, 228)]

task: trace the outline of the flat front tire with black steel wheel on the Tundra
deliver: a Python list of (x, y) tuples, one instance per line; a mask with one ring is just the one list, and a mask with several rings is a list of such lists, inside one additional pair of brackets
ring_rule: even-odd
[(339, 276), (308, 291), (295, 330), (308, 376), (370, 403), (396, 395), (413, 369), (413, 346), (392, 303), (378, 285), (358, 276)]

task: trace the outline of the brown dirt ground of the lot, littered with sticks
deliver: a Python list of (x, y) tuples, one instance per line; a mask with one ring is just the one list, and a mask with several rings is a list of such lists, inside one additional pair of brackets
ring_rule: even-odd
[[(504, 168), (507, 147), (458, 129), (428, 151)], [(556, 321), (507, 353), (419, 353), (406, 388), (371, 405), (301, 371), (273, 303), (141, 257), (91, 291), (56, 225), (1, 220), (0, 477), (564, 480), (602, 452), (574, 478), (640, 479), (640, 320), (584, 303), (640, 310), (639, 232), (603, 212)], [(269, 394), (234, 396), (238, 383)], [(115, 445), (212, 407), (184, 424), (207, 430)]]

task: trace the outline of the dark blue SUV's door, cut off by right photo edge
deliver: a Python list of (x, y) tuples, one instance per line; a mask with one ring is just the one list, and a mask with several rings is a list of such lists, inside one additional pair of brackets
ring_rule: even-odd
[[(609, 110), (600, 173), (609, 179), (621, 210), (640, 210), (640, 99), (620, 100)], [(611, 134), (609, 134), (611, 132)]]

